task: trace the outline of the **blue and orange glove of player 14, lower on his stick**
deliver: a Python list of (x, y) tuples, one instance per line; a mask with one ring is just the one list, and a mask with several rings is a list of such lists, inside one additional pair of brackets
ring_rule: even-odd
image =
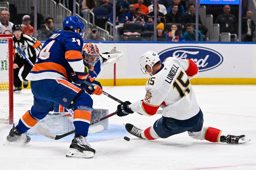
[(81, 84), (81, 88), (84, 89), (88, 94), (96, 94), (96, 95), (100, 95), (102, 94), (102, 86), (100, 84), (100, 82), (94, 80), (91, 77), (87, 77), (86, 80), (87, 82), (91, 83), (92, 85), (94, 85), (94, 87), (91, 87), (89, 85), (86, 84)]

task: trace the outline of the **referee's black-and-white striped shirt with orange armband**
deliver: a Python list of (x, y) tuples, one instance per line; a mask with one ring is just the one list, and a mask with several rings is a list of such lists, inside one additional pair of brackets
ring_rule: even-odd
[(36, 38), (32, 37), (31, 35), (22, 33), (20, 40), (17, 40), (15, 36), (12, 37), (14, 57), (16, 57), (17, 54), (19, 54), (21, 58), (24, 58), (22, 55), (20, 55), (19, 51), (17, 50), (18, 46), (22, 49), (22, 51), (27, 55), (28, 58), (36, 56), (36, 50), (40, 51), (42, 48), (41, 42), (38, 41)]

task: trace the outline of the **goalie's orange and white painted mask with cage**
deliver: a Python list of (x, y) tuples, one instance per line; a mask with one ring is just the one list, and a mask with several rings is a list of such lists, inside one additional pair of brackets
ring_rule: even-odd
[(83, 48), (83, 59), (85, 63), (89, 66), (89, 69), (92, 71), (94, 65), (100, 59), (100, 51), (99, 48), (92, 42), (85, 44)]

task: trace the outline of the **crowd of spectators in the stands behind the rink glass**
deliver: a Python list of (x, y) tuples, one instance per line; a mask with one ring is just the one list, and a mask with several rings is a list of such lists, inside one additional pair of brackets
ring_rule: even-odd
[[(113, 23), (113, 0), (77, 1), (80, 3), (82, 17), (88, 22), (92, 23), (90, 11), (100, 6), (108, 11), (108, 20)], [(69, 4), (72, 4), (72, 2), (73, 0), (70, 0)], [(154, 4), (152, 4), (154, 1), (152, 0), (117, 0), (115, 23), (118, 26), (118, 40), (125, 40), (123, 38), (124, 23), (139, 23), (143, 31), (145, 24), (154, 23), (156, 19), (157, 41), (195, 41), (195, 4), (187, 3), (188, 5), (186, 5), (184, 2), (185, 0), (157, 0), (157, 17), (155, 18)], [(237, 34), (238, 18), (230, 13), (231, 7), (224, 5), (220, 6), (220, 8), (223, 8), (223, 13), (221, 14), (220, 9), (220, 14), (214, 22), (220, 25), (220, 33)], [(252, 11), (246, 11), (246, 17), (242, 19), (242, 41), (252, 41), (253, 32), (255, 31), (252, 15)], [(34, 30), (34, 6), (31, 6), (30, 14), (20, 17), (22, 18), (22, 23), (19, 24), (22, 26), (23, 33), (33, 36), (36, 31), (39, 40), (46, 40), (54, 32), (58, 31), (54, 27), (54, 19), (52, 17), (44, 18), (40, 13), (37, 13), (37, 30)], [(1, 33), (12, 33), (11, 27), (13, 23), (9, 20), (10, 13), (8, 11), (1, 11)], [(207, 40), (208, 28), (202, 24), (200, 15), (198, 21), (201, 25), (201, 29), (198, 30), (198, 41), (205, 41)], [(86, 30), (86, 40), (100, 41), (100, 34), (97, 33), (96, 25), (91, 25), (89, 30)], [(151, 40), (153, 41), (153, 35), (151, 35)]]

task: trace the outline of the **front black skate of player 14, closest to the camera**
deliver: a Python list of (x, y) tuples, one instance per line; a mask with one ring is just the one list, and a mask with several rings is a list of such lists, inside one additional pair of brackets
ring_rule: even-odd
[(95, 150), (87, 143), (87, 137), (76, 135), (69, 146), (67, 158), (92, 158)]

